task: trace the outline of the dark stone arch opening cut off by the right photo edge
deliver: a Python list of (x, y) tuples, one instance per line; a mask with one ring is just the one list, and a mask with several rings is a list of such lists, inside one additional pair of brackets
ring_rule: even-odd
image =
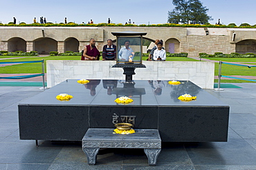
[(255, 53), (256, 54), (256, 40), (246, 39), (235, 44), (235, 52), (240, 54)]

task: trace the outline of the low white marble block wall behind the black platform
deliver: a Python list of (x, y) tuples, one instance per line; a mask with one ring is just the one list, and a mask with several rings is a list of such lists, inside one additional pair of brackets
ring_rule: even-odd
[[(125, 80), (122, 68), (112, 68), (116, 61), (46, 61), (47, 87), (66, 79)], [(136, 68), (134, 80), (192, 81), (203, 89), (214, 85), (214, 63), (205, 61), (143, 61), (147, 68)]]

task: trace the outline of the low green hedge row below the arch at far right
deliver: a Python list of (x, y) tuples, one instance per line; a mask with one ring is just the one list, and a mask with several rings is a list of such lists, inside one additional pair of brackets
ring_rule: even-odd
[(256, 58), (256, 54), (253, 53), (246, 53), (246, 54), (239, 54), (237, 52), (232, 52), (230, 54), (223, 54), (222, 52), (215, 52), (214, 54), (206, 54), (206, 53), (199, 53), (199, 57), (217, 57), (217, 58)]

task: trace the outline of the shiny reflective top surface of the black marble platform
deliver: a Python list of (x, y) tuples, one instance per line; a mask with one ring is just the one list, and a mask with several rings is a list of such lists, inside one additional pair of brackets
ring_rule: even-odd
[[(73, 98), (69, 101), (59, 101), (55, 96), (61, 93), (70, 94)], [(190, 94), (197, 98), (190, 102), (183, 102), (178, 99), (183, 94)], [(67, 80), (24, 101), (21, 105), (118, 105), (114, 100), (125, 95), (134, 99), (133, 103), (126, 106), (228, 107), (190, 81), (181, 81), (180, 85), (169, 85), (168, 81), (134, 81), (134, 84), (127, 85), (124, 81), (117, 80), (90, 80), (86, 85), (77, 83), (77, 80)]]

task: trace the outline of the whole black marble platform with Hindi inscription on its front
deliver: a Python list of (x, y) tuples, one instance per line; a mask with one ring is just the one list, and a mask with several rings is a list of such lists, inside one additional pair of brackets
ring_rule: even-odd
[[(67, 80), (24, 100), (19, 107), (19, 134), (24, 140), (81, 141), (89, 128), (113, 128), (129, 122), (136, 129), (158, 129), (163, 142), (224, 142), (228, 137), (229, 106), (190, 81)], [(66, 93), (69, 101), (55, 98)], [(197, 96), (183, 102), (183, 94)], [(129, 96), (134, 102), (114, 100)]]

